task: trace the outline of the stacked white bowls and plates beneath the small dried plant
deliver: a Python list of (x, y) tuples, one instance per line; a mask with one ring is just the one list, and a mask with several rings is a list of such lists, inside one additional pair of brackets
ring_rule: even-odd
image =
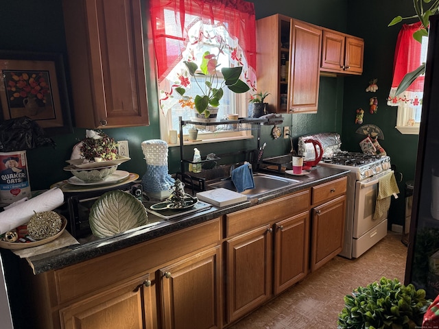
[(85, 159), (67, 160), (69, 165), (64, 171), (70, 171), (73, 177), (67, 182), (73, 185), (112, 184), (127, 178), (128, 171), (117, 170), (119, 164), (130, 160), (126, 156), (118, 156), (115, 160), (87, 162)]

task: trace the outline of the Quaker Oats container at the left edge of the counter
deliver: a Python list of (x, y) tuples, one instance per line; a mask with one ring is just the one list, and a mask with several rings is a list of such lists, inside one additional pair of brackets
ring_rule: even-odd
[(26, 151), (0, 152), (0, 204), (31, 197)]

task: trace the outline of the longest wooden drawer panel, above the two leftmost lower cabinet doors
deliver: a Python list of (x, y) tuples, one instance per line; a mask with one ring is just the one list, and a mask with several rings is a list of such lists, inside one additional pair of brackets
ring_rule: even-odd
[(73, 300), (78, 296), (84, 297), (97, 289), (137, 276), (207, 245), (219, 243), (219, 223), (219, 218), (213, 219), (55, 271), (58, 303)]

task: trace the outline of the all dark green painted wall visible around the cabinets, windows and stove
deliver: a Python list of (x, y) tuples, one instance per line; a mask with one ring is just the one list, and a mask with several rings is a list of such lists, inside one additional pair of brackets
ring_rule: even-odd
[[(399, 1), (398, 7), (407, 8), (410, 12), (411, 1)], [(404, 136), (394, 130), (396, 110), (385, 107), (385, 93), (388, 93), (388, 88), (390, 88), (392, 74), (394, 42), (399, 31), (399, 27), (388, 28), (386, 25), (395, 14), (403, 14), (402, 10), (396, 12), (392, 9), (394, 1), (254, 0), (252, 2), (254, 2), (257, 19), (282, 13), (302, 21), (360, 36), (366, 41), (365, 69), (361, 77), (321, 77), (318, 113), (284, 115), (282, 125), (291, 127), (296, 143), (296, 137), (302, 134), (339, 132), (342, 134), (344, 149), (358, 151), (357, 139), (360, 136), (355, 135), (357, 126), (353, 124), (354, 112), (358, 107), (367, 108), (370, 95), (365, 95), (364, 89), (368, 80), (378, 77), (379, 112), (372, 118), (365, 116), (365, 123), (375, 123), (383, 129), (385, 134), (383, 147), (392, 156), (392, 162), (398, 166), (399, 170), (404, 171), (405, 178), (413, 178), (417, 136)], [(1, 7), (0, 47), (2, 49), (62, 53), (65, 66), (68, 68), (60, 0), (3, 0)], [(69, 87), (68, 71), (66, 75)], [(148, 80), (148, 84), (150, 126), (104, 130), (116, 140), (129, 141), (132, 160), (121, 164), (120, 169), (139, 173), (139, 175), (143, 175), (145, 171), (141, 142), (160, 138), (155, 84), (152, 80)], [(272, 139), (271, 129), (270, 126), (262, 127), (261, 142), (268, 144), (265, 148), (265, 156), (284, 154), (289, 151), (289, 140)], [(27, 151), (30, 184), (34, 190), (48, 188), (51, 184), (70, 177), (69, 173), (62, 170), (62, 167), (66, 165), (65, 160), (69, 159), (73, 145), (84, 138), (84, 129), (74, 128), (72, 134), (53, 136), (53, 138), (57, 144), (55, 149), (41, 147)], [(200, 150), (202, 154), (211, 151), (222, 154), (230, 152), (230, 149), (252, 149), (255, 145), (254, 140), (214, 143), (200, 145)], [(402, 151), (413, 154), (413, 164), (407, 161)], [(187, 152), (191, 154), (189, 148)], [(179, 168), (179, 149), (169, 147), (169, 172), (175, 173)]]

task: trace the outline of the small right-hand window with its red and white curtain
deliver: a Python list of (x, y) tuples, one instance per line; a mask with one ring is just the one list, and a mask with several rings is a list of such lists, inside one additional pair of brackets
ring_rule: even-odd
[(428, 38), (422, 44), (414, 40), (413, 33), (422, 27), (421, 23), (403, 25), (396, 42), (394, 77), (388, 98), (389, 106), (398, 106), (395, 128), (401, 134), (419, 134), (420, 114), (423, 103), (424, 75), (418, 77), (403, 93), (396, 94), (396, 88), (404, 75), (418, 69), (427, 60)]

